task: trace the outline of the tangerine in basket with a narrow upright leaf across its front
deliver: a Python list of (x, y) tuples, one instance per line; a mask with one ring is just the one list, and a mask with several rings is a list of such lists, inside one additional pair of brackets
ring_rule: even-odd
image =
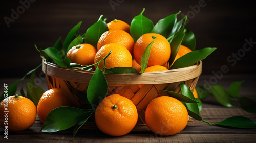
[(134, 59), (140, 65), (141, 57), (148, 44), (155, 39), (147, 62), (147, 67), (153, 65), (164, 65), (170, 58), (170, 43), (160, 34), (146, 33), (134, 44)]

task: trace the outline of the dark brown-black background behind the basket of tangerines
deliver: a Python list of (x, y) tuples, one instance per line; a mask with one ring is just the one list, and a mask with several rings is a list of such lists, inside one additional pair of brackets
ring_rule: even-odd
[[(110, 2), (118, 5), (111, 6)], [(193, 11), (199, 2), (204, 2), (204, 7)], [(239, 60), (227, 61), (232, 53), (243, 52), (245, 39), (256, 41), (253, 1), (37, 0), (30, 2), (30, 6), (14, 22), (10, 22), (8, 28), (4, 17), (11, 18), (11, 10), (17, 11), (20, 6), (19, 1), (1, 1), (1, 78), (22, 77), (35, 68), (41, 63), (41, 58), (34, 44), (41, 49), (52, 47), (59, 36), (65, 39), (79, 21), (83, 21), (80, 34), (86, 32), (101, 14), (104, 15), (103, 19), (108, 18), (107, 22), (116, 18), (130, 24), (144, 7), (143, 15), (150, 18), (154, 25), (180, 10), (179, 19), (182, 15), (190, 14), (188, 27), (196, 36), (196, 49), (217, 47), (203, 60), (202, 74), (212, 74), (212, 71), (221, 70), (223, 65), (229, 69), (227, 74), (254, 74), (256, 71), (254, 47), (241, 53), (243, 56)]]

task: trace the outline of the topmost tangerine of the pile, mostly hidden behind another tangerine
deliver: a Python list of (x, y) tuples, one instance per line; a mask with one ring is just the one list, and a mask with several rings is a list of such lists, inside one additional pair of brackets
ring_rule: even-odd
[(106, 26), (108, 26), (109, 30), (120, 29), (127, 33), (130, 33), (130, 26), (122, 20), (115, 19), (107, 23)]

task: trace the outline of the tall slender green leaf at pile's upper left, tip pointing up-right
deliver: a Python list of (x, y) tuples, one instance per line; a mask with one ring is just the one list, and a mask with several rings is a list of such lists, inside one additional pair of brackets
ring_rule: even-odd
[(68, 33), (63, 43), (63, 50), (67, 51), (69, 44), (77, 37), (82, 22), (79, 22)]

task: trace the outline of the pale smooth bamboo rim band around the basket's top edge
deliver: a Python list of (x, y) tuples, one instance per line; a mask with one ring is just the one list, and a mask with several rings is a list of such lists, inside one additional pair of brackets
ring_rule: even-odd
[[(106, 74), (105, 78), (110, 85), (134, 85), (134, 84), (163, 84), (187, 81), (199, 77), (202, 73), (202, 61), (198, 61), (195, 65), (172, 69), (166, 71), (158, 71), (152, 73), (125, 73), (125, 74)], [(66, 68), (59, 65), (42, 60), (42, 71), (52, 77), (89, 83), (94, 71), (76, 70), (76, 68)]]

